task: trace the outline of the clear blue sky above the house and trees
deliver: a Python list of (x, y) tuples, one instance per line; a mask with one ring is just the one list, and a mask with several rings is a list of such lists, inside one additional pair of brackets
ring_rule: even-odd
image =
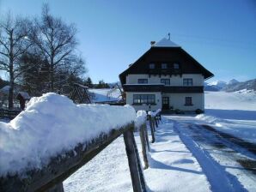
[[(42, 3), (0, 0), (0, 13), (40, 15)], [(94, 82), (118, 75), (158, 41), (171, 40), (215, 77), (209, 81), (256, 78), (255, 0), (52, 0), (53, 15), (76, 23), (79, 50)]]

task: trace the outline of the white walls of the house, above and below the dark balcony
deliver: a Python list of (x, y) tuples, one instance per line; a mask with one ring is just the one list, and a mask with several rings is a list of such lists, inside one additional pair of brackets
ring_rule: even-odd
[[(160, 84), (161, 79), (169, 79), (170, 85), (166, 87), (203, 87), (204, 76), (201, 74), (183, 74), (183, 75), (147, 75), (147, 74), (131, 74), (126, 76), (126, 84), (138, 84), (138, 79), (147, 79), (148, 85)], [(184, 86), (184, 79), (192, 79), (192, 85)], [(147, 84), (142, 84), (147, 85)], [(168, 97), (168, 109), (180, 111), (196, 111), (200, 109), (204, 111), (204, 93), (162, 93), (162, 92), (126, 92), (126, 104), (132, 105), (136, 111), (149, 110), (149, 104), (134, 103), (134, 95), (155, 95), (155, 104), (151, 104), (151, 110), (162, 109), (162, 97)], [(186, 104), (186, 97), (189, 97), (192, 102)]]

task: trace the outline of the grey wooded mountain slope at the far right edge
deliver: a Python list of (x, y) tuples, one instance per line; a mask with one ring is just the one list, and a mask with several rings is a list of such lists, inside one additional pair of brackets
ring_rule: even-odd
[(254, 90), (256, 91), (256, 79), (245, 81), (245, 82), (235, 82), (232, 84), (228, 84), (222, 90), (226, 92), (236, 92), (242, 89)]

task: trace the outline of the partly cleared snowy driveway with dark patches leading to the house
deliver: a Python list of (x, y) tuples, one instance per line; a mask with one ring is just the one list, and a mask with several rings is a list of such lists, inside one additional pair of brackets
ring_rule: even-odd
[(169, 120), (198, 160), (213, 191), (256, 191), (255, 156), (196, 122)]

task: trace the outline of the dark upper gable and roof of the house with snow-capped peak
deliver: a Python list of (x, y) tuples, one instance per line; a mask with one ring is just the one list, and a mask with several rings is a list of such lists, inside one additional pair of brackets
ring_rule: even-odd
[[(203, 65), (198, 63), (197, 60), (184, 51), (179, 45), (174, 44), (168, 39), (162, 39), (155, 45), (152, 45), (143, 56), (139, 57), (135, 63), (131, 64), (128, 69), (125, 69), (125, 71), (119, 75), (121, 83), (125, 84), (126, 75), (128, 74), (149, 74), (149, 63), (156, 63), (159, 66), (161, 63), (180, 63), (180, 75), (189, 73), (202, 74), (204, 75), (204, 80), (213, 76), (209, 70), (205, 69)], [(174, 75), (171, 70), (169, 71), (169, 75)]]

